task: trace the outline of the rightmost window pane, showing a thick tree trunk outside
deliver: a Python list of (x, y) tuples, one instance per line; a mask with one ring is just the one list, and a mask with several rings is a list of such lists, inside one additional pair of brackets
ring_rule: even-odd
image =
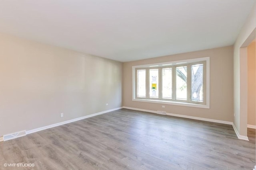
[(191, 100), (203, 102), (203, 67), (204, 64), (191, 66)]

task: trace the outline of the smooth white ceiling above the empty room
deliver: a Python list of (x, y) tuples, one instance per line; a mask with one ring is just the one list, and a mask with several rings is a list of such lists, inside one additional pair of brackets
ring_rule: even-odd
[(0, 32), (116, 61), (232, 45), (255, 0), (0, 0)]

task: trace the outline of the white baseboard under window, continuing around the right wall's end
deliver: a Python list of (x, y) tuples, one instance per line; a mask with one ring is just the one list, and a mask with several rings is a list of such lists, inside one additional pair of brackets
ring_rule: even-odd
[[(134, 107), (123, 107), (125, 109), (131, 109), (131, 110), (138, 110), (138, 111), (146, 111), (146, 112), (150, 112), (150, 113), (156, 113), (157, 111), (153, 111), (153, 110), (146, 110), (146, 109), (138, 109), (138, 108), (134, 108)], [(183, 118), (188, 118), (188, 119), (196, 119), (196, 120), (202, 120), (202, 121), (210, 121), (210, 122), (215, 122), (215, 123), (222, 123), (222, 124), (227, 124), (227, 125), (232, 125), (233, 129), (236, 133), (236, 136), (238, 137), (238, 139), (242, 139), (245, 141), (249, 141), (247, 136), (242, 136), (239, 135), (235, 125), (233, 122), (231, 121), (222, 121), (222, 120), (215, 120), (215, 119), (206, 119), (206, 118), (202, 118), (202, 117), (194, 117), (194, 116), (187, 116), (187, 115), (178, 115), (178, 114), (173, 114), (173, 113), (166, 113), (166, 115), (170, 115), (170, 116), (175, 116), (175, 117), (183, 117)]]

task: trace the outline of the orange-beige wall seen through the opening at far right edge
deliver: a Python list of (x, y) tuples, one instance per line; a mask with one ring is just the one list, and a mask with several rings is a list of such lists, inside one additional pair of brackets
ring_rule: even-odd
[(247, 116), (247, 124), (255, 125), (256, 120), (256, 49), (255, 49), (255, 41), (250, 43), (247, 47), (247, 63), (248, 63), (248, 116)]

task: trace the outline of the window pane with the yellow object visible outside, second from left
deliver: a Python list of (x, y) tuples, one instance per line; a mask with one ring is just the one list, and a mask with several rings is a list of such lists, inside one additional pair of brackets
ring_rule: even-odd
[(149, 70), (149, 97), (158, 98), (158, 69)]

